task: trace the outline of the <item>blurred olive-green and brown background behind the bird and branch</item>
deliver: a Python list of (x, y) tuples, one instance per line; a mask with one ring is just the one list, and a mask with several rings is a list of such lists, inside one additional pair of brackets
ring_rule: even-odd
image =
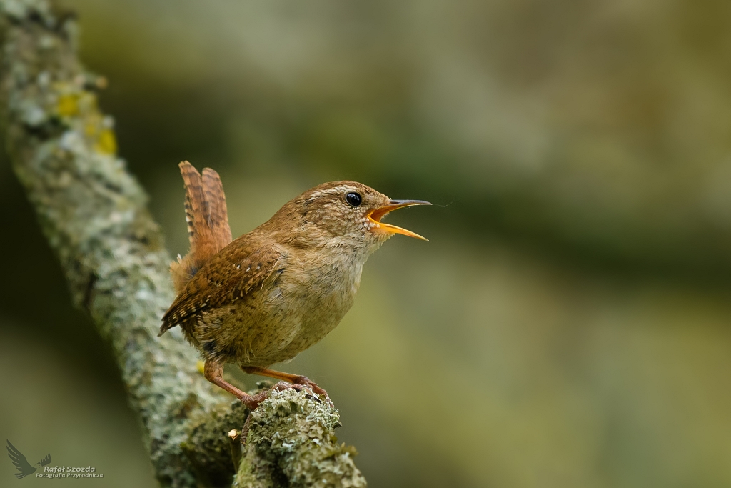
[[(322, 181), (437, 204), (286, 367), (372, 487), (731, 486), (730, 2), (65, 3), (171, 253), (181, 159), (235, 235)], [(105, 473), (18, 485), (155, 486), (5, 156), (0, 202), (0, 430)]]

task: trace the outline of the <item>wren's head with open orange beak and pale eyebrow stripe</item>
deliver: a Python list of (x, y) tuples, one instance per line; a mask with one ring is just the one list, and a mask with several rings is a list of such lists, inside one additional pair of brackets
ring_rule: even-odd
[(272, 220), (292, 222), (293, 243), (352, 247), (370, 254), (395, 234), (427, 240), (411, 230), (382, 222), (391, 211), (414, 205), (431, 203), (391, 200), (365, 184), (335, 181), (318, 185), (289, 201)]

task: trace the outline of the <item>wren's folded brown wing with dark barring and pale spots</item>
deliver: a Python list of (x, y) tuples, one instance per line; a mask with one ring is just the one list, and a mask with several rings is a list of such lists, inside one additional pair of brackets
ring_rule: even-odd
[(246, 300), (284, 272), (284, 253), (274, 245), (246, 245), (241, 236), (215, 255), (190, 279), (165, 312), (160, 335), (175, 326), (194, 323), (207, 309)]

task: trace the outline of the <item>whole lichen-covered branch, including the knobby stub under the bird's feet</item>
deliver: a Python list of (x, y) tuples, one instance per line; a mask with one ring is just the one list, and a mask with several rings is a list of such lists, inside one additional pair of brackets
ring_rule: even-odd
[[(159, 481), (226, 486), (236, 471), (226, 435), (243, 426), (248, 412), (202, 377), (197, 354), (178, 331), (156, 337), (173, 300), (170, 257), (143, 189), (116, 156), (113, 119), (96, 103), (106, 82), (77, 60), (75, 30), (74, 16), (53, 2), (0, 0), (0, 110), (8, 154), (73, 301), (112, 346)], [(273, 405), (285, 397), (286, 414)], [(334, 457), (322, 457), (322, 446), (335, 446), (334, 409), (294, 391), (267, 402), (252, 417), (254, 437), (242, 466), (268, 463), (269, 476), (284, 478), (261, 486), (280, 486), (282, 480), (306, 486), (300, 480), (321, 472), (343, 474), (327, 477), (332, 486), (365, 484), (345, 448), (333, 447)], [(290, 442), (275, 441), (280, 438), (299, 440), (287, 450)], [(330, 468), (327, 459), (335, 463)], [(238, 478), (265, 477), (263, 468), (249, 468)]]

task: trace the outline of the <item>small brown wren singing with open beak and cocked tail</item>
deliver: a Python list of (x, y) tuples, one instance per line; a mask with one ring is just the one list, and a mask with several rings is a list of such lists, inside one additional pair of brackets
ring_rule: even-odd
[[(338, 325), (353, 304), (363, 264), (394, 234), (410, 230), (382, 222), (390, 211), (421, 200), (390, 200), (355, 181), (321, 184), (231, 241), (218, 173), (202, 176), (180, 164), (186, 187), (190, 250), (170, 266), (178, 296), (160, 335), (181, 326), (205, 359), (205, 378), (249, 408), (267, 392), (249, 395), (223, 379), (223, 365), (327, 392), (308, 378), (268, 369), (294, 358)], [(287, 383), (278, 383), (286, 388)]]

